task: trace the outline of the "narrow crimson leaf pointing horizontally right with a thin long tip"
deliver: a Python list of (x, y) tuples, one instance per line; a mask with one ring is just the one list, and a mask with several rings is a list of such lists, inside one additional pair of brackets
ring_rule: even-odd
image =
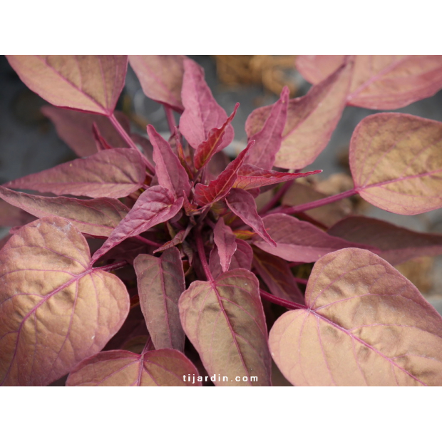
[(285, 181), (296, 180), (297, 178), (307, 177), (321, 173), (322, 170), (313, 170), (306, 173), (283, 173), (276, 170), (264, 170), (255, 165), (243, 164), (238, 170), (238, 177), (233, 187), (238, 189), (250, 190), (264, 185), (284, 183)]

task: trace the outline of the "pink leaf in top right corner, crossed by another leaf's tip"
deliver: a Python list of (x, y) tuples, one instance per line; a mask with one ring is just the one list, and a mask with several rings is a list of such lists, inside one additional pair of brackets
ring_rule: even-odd
[[(296, 65), (310, 83), (332, 74), (345, 56), (298, 56)], [(442, 56), (359, 55), (354, 57), (348, 104), (397, 109), (431, 97), (442, 88)]]

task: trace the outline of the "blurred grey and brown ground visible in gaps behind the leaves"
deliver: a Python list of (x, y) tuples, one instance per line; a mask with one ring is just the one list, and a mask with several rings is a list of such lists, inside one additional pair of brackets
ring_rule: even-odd
[[(303, 96), (310, 84), (294, 68), (296, 56), (190, 56), (205, 69), (205, 78), (213, 95), (227, 114), (240, 103), (232, 124), (235, 140), (226, 148), (235, 157), (247, 143), (244, 130), (247, 116), (257, 107), (277, 101), (283, 86), (289, 86), (291, 98)], [(76, 158), (73, 151), (58, 138), (50, 120), (41, 113), (46, 101), (31, 92), (0, 56), (0, 183), (36, 173)], [(146, 98), (138, 78), (128, 66), (125, 88), (117, 109), (130, 118), (134, 132), (145, 135), (147, 124), (168, 136), (168, 123), (163, 106)], [(442, 91), (431, 98), (395, 110), (423, 118), (442, 121)], [(305, 184), (332, 195), (353, 187), (348, 165), (351, 133), (362, 118), (376, 113), (363, 108), (347, 107), (327, 148), (305, 170), (322, 169), (320, 175)], [(178, 115), (175, 115), (178, 121)], [(441, 153), (442, 155), (442, 153)], [(442, 210), (421, 215), (396, 215), (378, 209), (354, 197), (349, 202), (354, 212), (393, 222), (418, 232), (442, 234)], [(0, 202), (1, 212), (5, 206)], [(1, 225), (5, 225), (2, 222)], [(0, 238), (9, 227), (0, 227)], [(427, 297), (442, 314), (442, 257), (421, 257), (397, 268)]]

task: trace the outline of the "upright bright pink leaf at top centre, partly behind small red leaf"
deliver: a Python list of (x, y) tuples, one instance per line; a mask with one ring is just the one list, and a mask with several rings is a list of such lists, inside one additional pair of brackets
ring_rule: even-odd
[[(207, 140), (210, 130), (222, 126), (227, 120), (227, 113), (213, 98), (205, 82), (202, 67), (190, 59), (184, 61), (181, 98), (185, 110), (180, 118), (180, 132), (192, 148), (196, 149)], [(229, 145), (234, 135), (232, 125), (228, 125), (218, 150)]]

